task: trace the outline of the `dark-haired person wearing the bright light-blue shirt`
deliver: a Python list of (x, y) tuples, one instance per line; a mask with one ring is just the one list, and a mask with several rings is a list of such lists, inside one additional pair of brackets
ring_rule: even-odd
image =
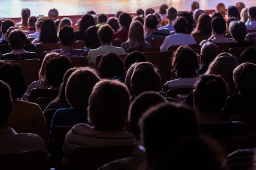
[(186, 34), (188, 29), (188, 22), (185, 17), (177, 17), (174, 21), (175, 34), (165, 37), (160, 50), (167, 51), (172, 45), (189, 45), (196, 44), (192, 35)]

